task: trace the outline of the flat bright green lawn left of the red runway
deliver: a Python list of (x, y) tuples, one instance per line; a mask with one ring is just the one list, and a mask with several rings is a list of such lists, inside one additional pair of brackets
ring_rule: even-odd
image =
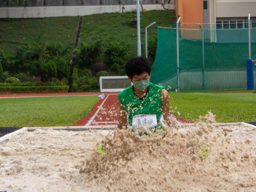
[(0, 127), (72, 125), (98, 100), (97, 96), (0, 99)]

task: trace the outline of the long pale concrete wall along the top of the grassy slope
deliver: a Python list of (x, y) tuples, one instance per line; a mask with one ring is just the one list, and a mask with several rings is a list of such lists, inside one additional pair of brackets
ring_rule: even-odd
[[(175, 9), (175, 4), (165, 4), (166, 9)], [(161, 4), (143, 5), (143, 9), (164, 10)], [(99, 13), (131, 12), (136, 10), (134, 5), (111, 6), (38, 6), (38, 7), (0, 7), (0, 18), (28, 18), (28, 17), (64, 17), (78, 15), (92, 15)]]

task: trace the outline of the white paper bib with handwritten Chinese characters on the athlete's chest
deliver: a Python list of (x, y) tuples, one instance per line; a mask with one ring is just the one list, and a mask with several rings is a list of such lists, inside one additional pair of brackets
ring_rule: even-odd
[(157, 126), (157, 116), (156, 115), (135, 115), (132, 117), (132, 126), (141, 128), (145, 126), (146, 128), (154, 128)]

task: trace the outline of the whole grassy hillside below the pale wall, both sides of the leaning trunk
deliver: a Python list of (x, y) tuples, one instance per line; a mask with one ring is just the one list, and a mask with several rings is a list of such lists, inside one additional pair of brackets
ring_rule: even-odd
[[(122, 41), (130, 45), (131, 55), (137, 49), (137, 25), (131, 26), (136, 13), (105, 13), (84, 16), (81, 29), (80, 43), (94, 43), (95, 41)], [(141, 13), (141, 40), (144, 45), (144, 28), (156, 21), (157, 26), (167, 26), (175, 23), (174, 11), (147, 11)], [(42, 32), (41, 41), (61, 42), (64, 46), (73, 46), (79, 17), (45, 17), (27, 19), (0, 19), (0, 50), (15, 52), (17, 44), (29, 43)], [(156, 26), (148, 29), (148, 35), (156, 35)], [(134, 47), (135, 46), (135, 47)], [(145, 49), (143, 47), (143, 49)]]

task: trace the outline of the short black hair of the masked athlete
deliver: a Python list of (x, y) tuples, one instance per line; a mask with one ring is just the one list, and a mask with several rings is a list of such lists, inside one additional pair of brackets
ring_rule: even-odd
[(134, 75), (140, 75), (147, 72), (150, 75), (151, 72), (151, 62), (145, 57), (133, 57), (127, 61), (125, 65), (125, 72), (131, 79)]

